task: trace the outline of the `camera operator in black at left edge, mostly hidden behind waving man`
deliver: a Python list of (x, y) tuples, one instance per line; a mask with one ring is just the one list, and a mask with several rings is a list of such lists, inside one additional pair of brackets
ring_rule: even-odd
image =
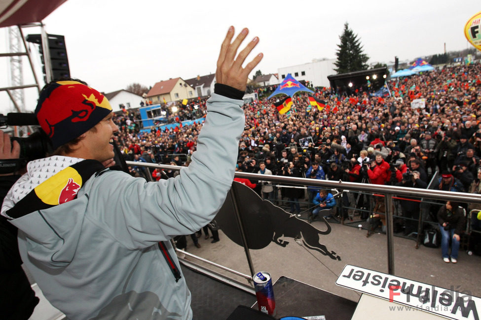
[[(18, 159), (20, 145), (17, 141), (10, 143), (10, 136), (0, 130), (0, 159)], [(0, 174), (0, 201), (10, 187), (20, 178), (19, 174)], [(22, 259), (18, 252), (17, 228), (7, 219), (0, 216), (0, 283), (2, 299), (0, 307), (4, 319), (27, 320), (34, 312), (38, 303), (35, 291), (30, 287), (27, 275), (22, 269)]]

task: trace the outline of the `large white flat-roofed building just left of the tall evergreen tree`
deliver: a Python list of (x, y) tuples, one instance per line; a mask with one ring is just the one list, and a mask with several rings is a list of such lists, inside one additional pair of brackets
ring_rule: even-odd
[(315, 59), (311, 63), (279, 68), (277, 69), (279, 82), (282, 82), (290, 73), (297, 81), (307, 80), (312, 82), (314, 87), (329, 87), (328, 75), (336, 74), (335, 61), (335, 59)]

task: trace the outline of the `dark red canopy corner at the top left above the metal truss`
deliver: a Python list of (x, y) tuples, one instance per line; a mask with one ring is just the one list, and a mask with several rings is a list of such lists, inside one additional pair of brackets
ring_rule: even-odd
[(0, 28), (40, 22), (67, 0), (2, 0)]

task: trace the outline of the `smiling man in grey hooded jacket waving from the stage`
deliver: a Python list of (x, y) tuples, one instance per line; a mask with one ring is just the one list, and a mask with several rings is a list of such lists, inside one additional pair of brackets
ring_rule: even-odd
[(118, 130), (109, 101), (78, 81), (50, 83), (36, 114), (54, 156), (30, 161), (1, 213), (18, 232), (22, 260), (48, 301), (69, 319), (191, 319), (191, 295), (170, 244), (212, 221), (234, 177), (247, 76), (257, 55), (230, 27), (215, 93), (192, 162), (169, 180), (146, 182), (104, 168)]

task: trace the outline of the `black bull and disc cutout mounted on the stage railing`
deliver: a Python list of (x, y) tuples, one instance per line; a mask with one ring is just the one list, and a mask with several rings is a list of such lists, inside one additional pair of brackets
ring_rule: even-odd
[[(323, 222), (327, 229), (321, 231), (311, 224), (297, 219), (271, 202), (262, 200), (256, 192), (241, 183), (234, 181), (232, 189), (249, 249), (265, 248), (271, 241), (285, 247), (289, 244), (289, 241), (283, 240), (281, 237), (290, 237), (296, 241), (302, 240), (307, 248), (316, 250), (334, 260), (341, 259), (335, 252), (330, 252), (325, 245), (320, 243), (320, 236), (331, 232), (331, 225), (326, 219), (323, 218)], [(229, 239), (243, 246), (239, 226), (234, 215), (231, 192), (227, 194), (227, 198), (215, 220)]]

